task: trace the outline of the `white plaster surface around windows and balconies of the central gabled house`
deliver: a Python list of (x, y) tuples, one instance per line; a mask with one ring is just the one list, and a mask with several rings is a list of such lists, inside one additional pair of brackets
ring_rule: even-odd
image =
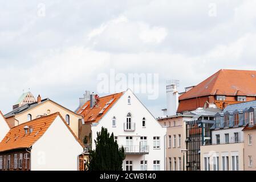
[[(131, 105), (128, 105), (128, 96), (131, 97)], [(132, 122), (136, 123), (136, 130), (133, 132), (124, 131), (124, 122), (126, 122), (127, 114), (132, 114)], [(117, 126), (112, 127), (112, 118), (116, 117)], [(142, 119), (146, 119), (146, 127), (142, 126)], [(165, 134), (166, 129), (149, 113), (149, 111), (141, 104), (136, 96), (127, 90), (124, 95), (113, 105), (113, 107), (104, 115), (97, 126), (92, 126), (92, 141), (95, 148), (96, 133), (101, 130), (101, 127), (108, 129), (118, 137), (119, 145), (126, 145), (126, 137), (133, 137), (133, 145), (140, 145), (140, 137), (148, 138), (149, 155), (145, 155), (145, 160), (148, 161), (148, 170), (153, 170), (153, 160), (160, 160), (160, 169), (164, 171), (165, 162)], [(159, 150), (153, 149), (153, 137), (160, 137)], [(140, 170), (140, 161), (143, 160), (143, 155), (127, 155), (127, 159), (133, 160), (133, 170)]]

